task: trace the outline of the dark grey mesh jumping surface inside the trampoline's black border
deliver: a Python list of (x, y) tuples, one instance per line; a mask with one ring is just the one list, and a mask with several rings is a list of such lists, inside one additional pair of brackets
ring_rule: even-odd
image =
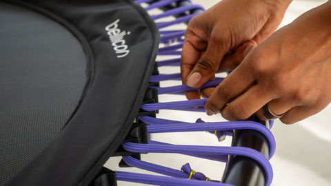
[(87, 81), (86, 56), (62, 25), (0, 3), (0, 185), (66, 124)]

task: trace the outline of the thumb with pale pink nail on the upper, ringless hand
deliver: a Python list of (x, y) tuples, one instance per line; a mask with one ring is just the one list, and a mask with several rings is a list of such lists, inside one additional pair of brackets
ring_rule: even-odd
[(221, 43), (217, 44), (216, 42), (210, 39), (207, 50), (199, 61), (197, 61), (197, 64), (194, 65), (190, 74), (188, 74), (186, 85), (201, 87), (201, 85), (209, 81), (217, 72), (219, 63), (221, 63), (223, 55), (226, 52), (221, 50)]

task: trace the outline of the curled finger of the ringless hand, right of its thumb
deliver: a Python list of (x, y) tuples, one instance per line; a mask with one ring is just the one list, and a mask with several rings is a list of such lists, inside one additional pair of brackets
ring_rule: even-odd
[(225, 72), (237, 68), (245, 56), (247, 56), (255, 47), (257, 47), (257, 43), (254, 40), (250, 40), (246, 43), (243, 43), (243, 45), (232, 52), (232, 54), (223, 56), (221, 64), (219, 65), (219, 71)]

